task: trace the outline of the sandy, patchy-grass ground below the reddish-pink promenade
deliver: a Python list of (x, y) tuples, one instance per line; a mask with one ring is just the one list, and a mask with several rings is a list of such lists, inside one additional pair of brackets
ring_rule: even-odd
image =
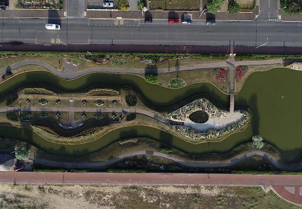
[[(296, 208), (259, 187), (0, 185), (2, 208)], [(298, 208), (298, 207), (297, 207)]]

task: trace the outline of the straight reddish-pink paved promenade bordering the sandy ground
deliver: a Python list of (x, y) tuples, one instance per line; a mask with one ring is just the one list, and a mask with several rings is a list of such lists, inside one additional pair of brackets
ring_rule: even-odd
[(302, 206), (300, 175), (0, 172), (0, 183), (261, 186), (265, 191), (272, 189), (287, 202)]

